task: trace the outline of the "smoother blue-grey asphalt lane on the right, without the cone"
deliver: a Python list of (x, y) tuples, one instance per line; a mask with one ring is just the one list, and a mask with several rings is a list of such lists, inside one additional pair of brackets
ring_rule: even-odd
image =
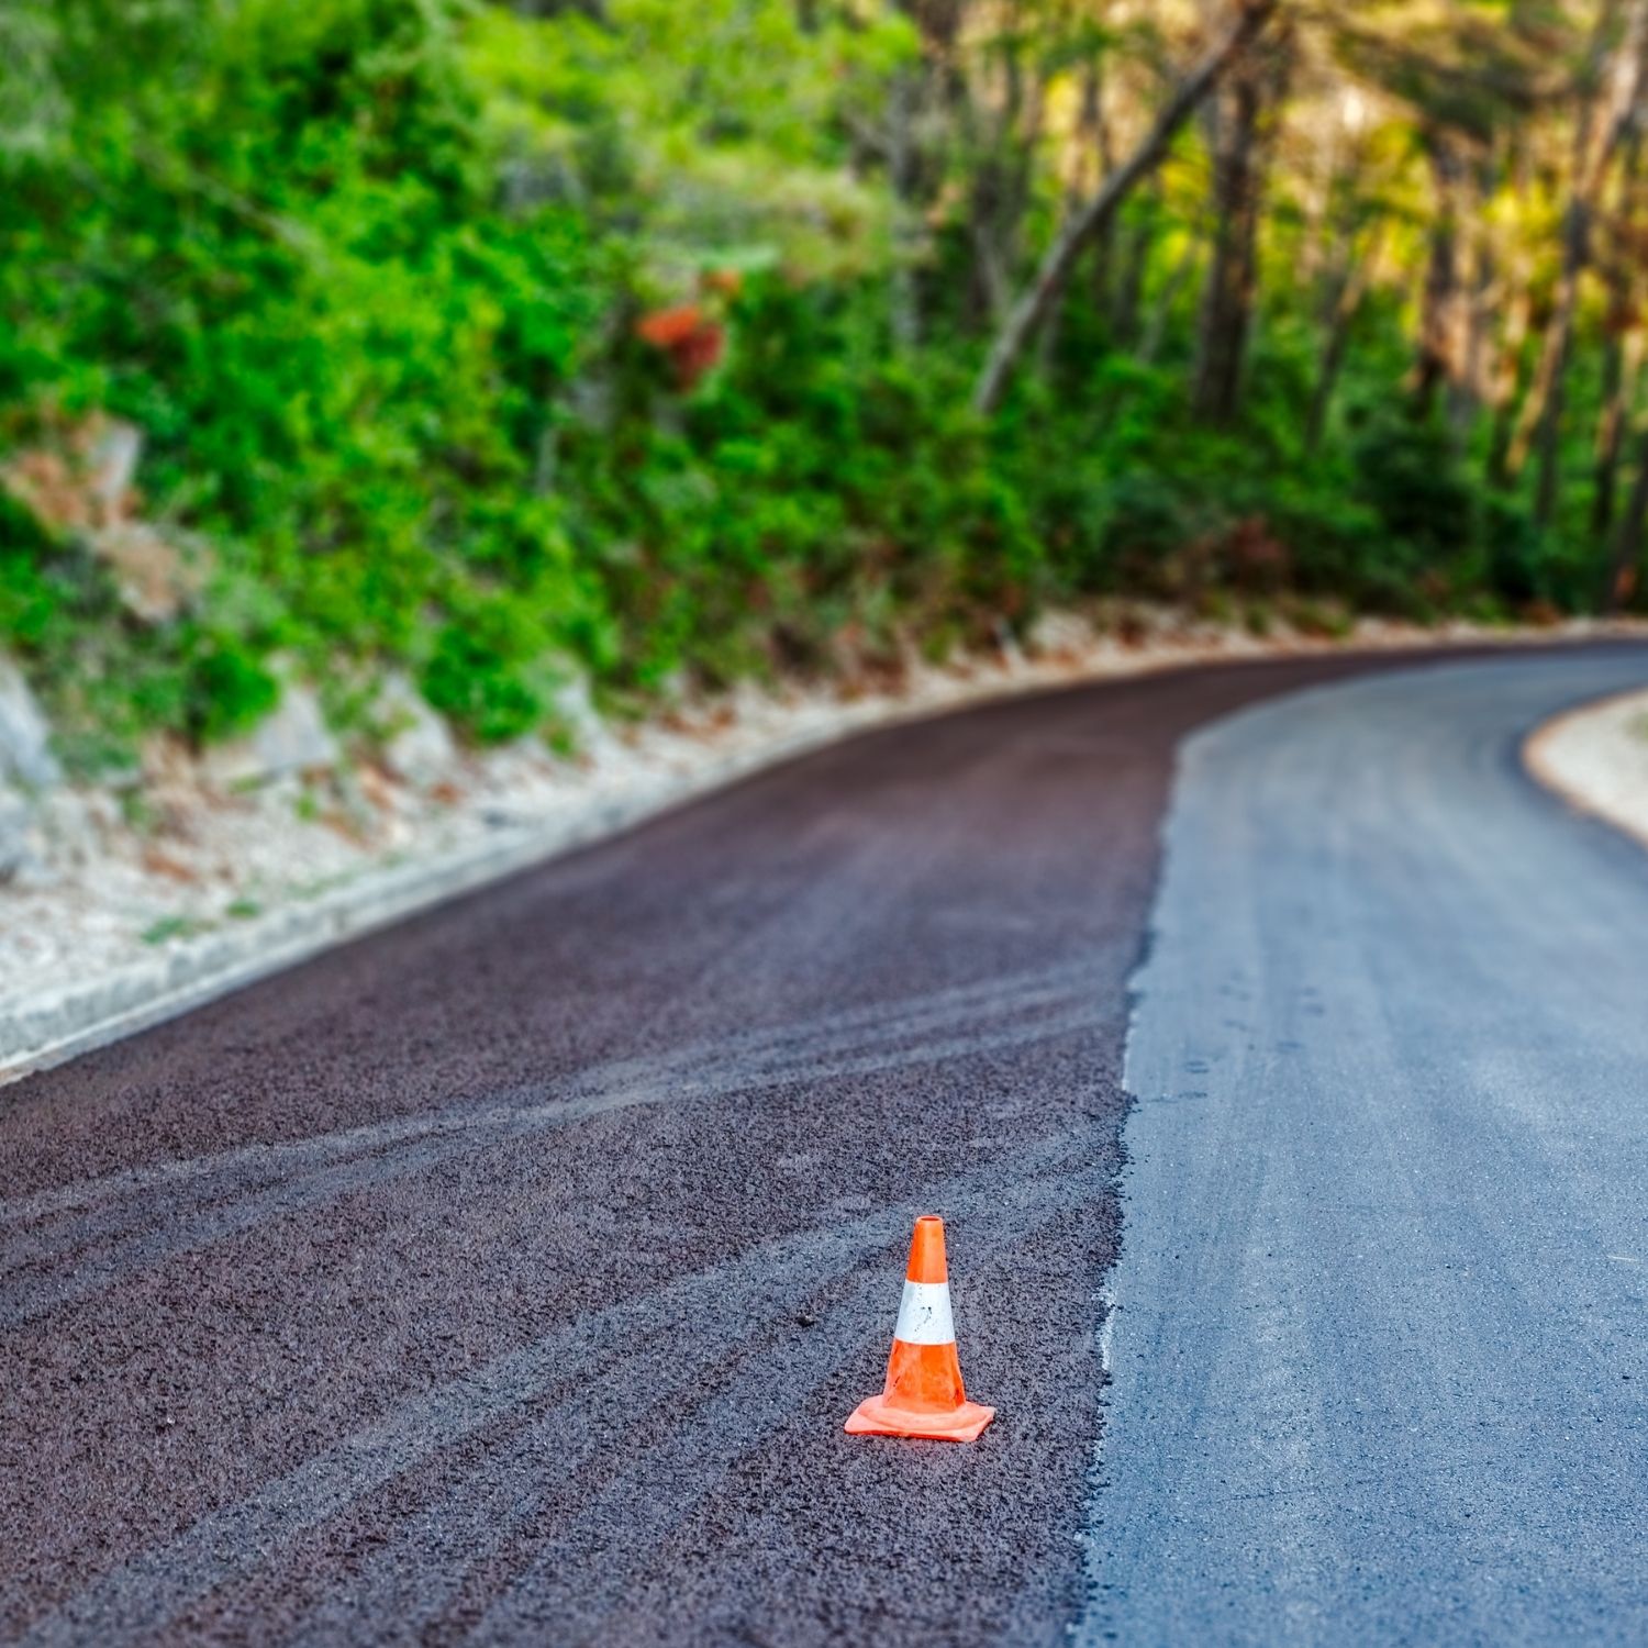
[(1648, 1641), (1648, 855), (1518, 760), (1645, 674), (1187, 745), (1081, 1643)]

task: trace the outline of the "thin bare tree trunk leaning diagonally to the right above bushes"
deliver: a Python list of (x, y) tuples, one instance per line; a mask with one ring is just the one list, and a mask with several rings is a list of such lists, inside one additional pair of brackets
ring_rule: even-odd
[(1140, 178), (1162, 163), (1178, 129), (1213, 91), (1224, 69), (1252, 44), (1274, 13), (1276, 0), (1239, 0), (1236, 16), (1224, 35), (1180, 81), (1144, 142), (1099, 185), (1094, 196), (1053, 241), (1028, 290), (1020, 295), (990, 346), (972, 392), (977, 412), (990, 414), (1000, 404), (1014, 369), (1046, 318), (1083, 247), (1116, 216), (1116, 209)]

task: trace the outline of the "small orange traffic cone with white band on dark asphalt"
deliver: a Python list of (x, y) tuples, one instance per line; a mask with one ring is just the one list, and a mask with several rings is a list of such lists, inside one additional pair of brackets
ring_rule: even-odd
[(949, 1317), (944, 1221), (936, 1213), (923, 1213), (910, 1239), (887, 1389), (859, 1402), (847, 1430), (850, 1435), (972, 1442), (994, 1417), (994, 1407), (969, 1402), (961, 1388), (956, 1327)]

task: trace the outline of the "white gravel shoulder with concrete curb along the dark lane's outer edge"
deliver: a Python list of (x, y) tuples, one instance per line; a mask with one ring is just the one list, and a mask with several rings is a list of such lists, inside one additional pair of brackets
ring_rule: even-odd
[(130, 864), (99, 849), (81, 854), (82, 862), (46, 887), (5, 888), (0, 1084), (855, 732), (1192, 664), (1539, 644), (1632, 628), (1424, 630), (1365, 620), (1335, 639), (1292, 631), (1256, 636), (1157, 613), (1152, 626), (1122, 639), (1071, 620), (1046, 626), (1028, 658), (1017, 651), (972, 658), (918, 672), (897, 691), (854, 697), (748, 694), (699, 717), (641, 728), (630, 740), (603, 738), (582, 763), (514, 761), (508, 768), (514, 778), (475, 781), (461, 803), (414, 819), (417, 827), (402, 819), (381, 850), (323, 822), (303, 822), (290, 804), (282, 809), (279, 796), (267, 804), (227, 796), (196, 809), (175, 839), (158, 844), (163, 852), (133, 839), (124, 852)]

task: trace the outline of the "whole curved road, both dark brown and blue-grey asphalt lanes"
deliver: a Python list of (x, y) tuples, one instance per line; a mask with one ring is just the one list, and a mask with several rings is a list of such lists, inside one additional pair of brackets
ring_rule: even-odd
[[(1406, 662), (862, 738), (0, 1093), (0, 1640), (1640, 1636), (1648, 860), (1511, 753), (1648, 654)], [(1000, 1417), (844, 1437), (928, 1210)]]

